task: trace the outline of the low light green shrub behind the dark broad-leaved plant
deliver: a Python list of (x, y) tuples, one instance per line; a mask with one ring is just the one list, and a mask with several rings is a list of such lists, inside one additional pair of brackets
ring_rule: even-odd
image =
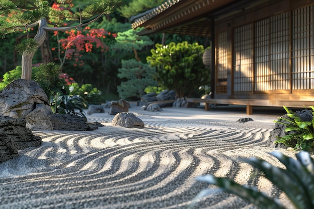
[(70, 91), (72, 95), (77, 95), (87, 105), (99, 105), (104, 101), (101, 91), (99, 91), (97, 88), (94, 88), (91, 84), (83, 84), (82, 86), (79, 86), (79, 84), (74, 83), (71, 84)]

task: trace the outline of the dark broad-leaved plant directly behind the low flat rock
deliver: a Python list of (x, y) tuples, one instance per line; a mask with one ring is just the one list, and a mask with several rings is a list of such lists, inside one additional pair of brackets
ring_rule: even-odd
[[(54, 114), (79, 115), (82, 116), (85, 121), (87, 121), (83, 111), (87, 105), (78, 96), (61, 95), (59, 92), (57, 92), (55, 95), (50, 97), (50, 106)], [(77, 110), (79, 112), (77, 112)]]

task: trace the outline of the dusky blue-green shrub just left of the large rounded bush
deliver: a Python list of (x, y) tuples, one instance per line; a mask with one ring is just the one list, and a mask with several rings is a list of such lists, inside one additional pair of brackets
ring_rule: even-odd
[(119, 68), (118, 77), (124, 79), (117, 87), (120, 98), (139, 98), (144, 94), (147, 86), (154, 86), (155, 69), (148, 64), (138, 62), (135, 59), (122, 60), (122, 68)]

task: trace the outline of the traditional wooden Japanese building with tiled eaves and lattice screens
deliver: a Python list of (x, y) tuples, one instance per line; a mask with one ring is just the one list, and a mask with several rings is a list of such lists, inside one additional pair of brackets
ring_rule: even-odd
[(210, 37), (207, 103), (314, 105), (314, 0), (169, 0), (132, 27)]

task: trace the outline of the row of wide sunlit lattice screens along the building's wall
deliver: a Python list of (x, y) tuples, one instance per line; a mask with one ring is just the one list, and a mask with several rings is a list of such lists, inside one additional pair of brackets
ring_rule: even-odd
[(314, 89), (314, 5), (234, 29), (235, 94)]

